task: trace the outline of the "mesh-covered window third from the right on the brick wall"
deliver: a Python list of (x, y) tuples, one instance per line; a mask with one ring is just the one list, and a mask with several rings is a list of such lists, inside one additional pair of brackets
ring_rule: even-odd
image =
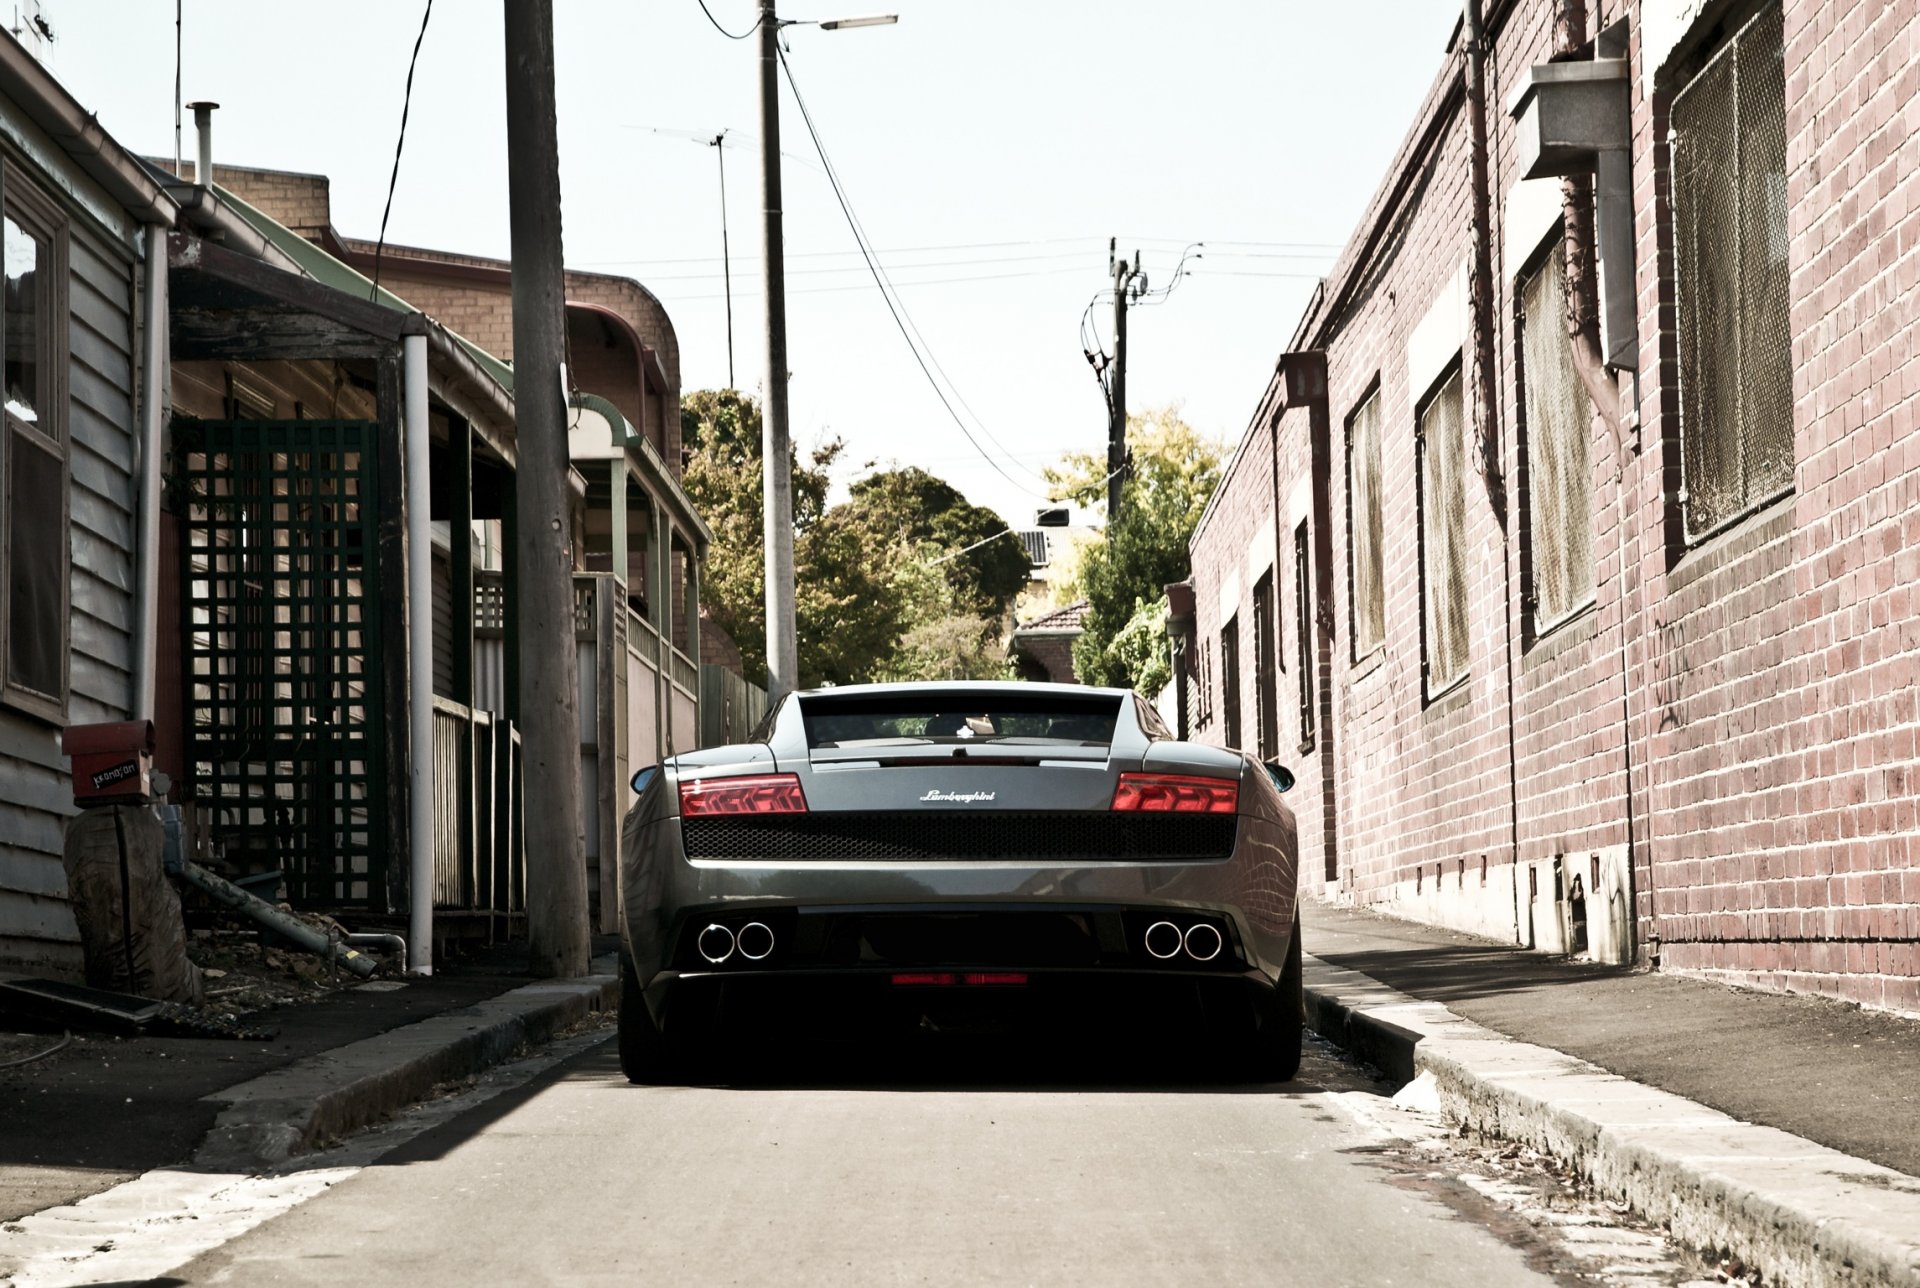
[(1461, 374), (1421, 411), (1421, 599), (1427, 693), (1467, 674), (1467, 441)]

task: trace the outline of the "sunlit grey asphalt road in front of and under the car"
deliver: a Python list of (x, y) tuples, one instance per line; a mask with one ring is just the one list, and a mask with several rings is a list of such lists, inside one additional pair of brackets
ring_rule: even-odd
[(1475, 1154), (1417, 1094), (1396, 1104), (1317, 1044), (1300, 1079), (1271, 1086), (1096, 1077), (1121, 1052), (918, 1046), (780, 1083), (641, 1088), (607, 1037), (568, 1038), (286, 1175), (148, 1173), (6, 1227), (29, 1255), (0, 1280), (1693, 1278), (1657, 1234), (1619, 1228), (1540, 1167)]

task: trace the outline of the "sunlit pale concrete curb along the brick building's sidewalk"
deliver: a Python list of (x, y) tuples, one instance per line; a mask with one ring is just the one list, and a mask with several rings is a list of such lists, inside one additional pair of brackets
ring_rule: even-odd
[(1920, 1179), (1630, 1083), (1306, 958), (1308, 1023), (1467, 1129), (1574, 1165), (1607, 1198), (1768, 1284), (1920, 1286)]

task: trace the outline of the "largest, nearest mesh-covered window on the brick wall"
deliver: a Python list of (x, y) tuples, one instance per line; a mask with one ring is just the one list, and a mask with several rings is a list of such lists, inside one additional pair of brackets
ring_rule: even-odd
[(1780, 8), (1674, 96), (1674, 259), (1686, 536), (1793, 484)]

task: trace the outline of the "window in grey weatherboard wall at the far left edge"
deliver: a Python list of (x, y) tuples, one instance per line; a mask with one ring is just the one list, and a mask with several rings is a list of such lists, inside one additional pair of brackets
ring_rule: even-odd
[(0, 161), (6, 351), (0, 417), (0, 701), (67, 712), (67, 230)]

